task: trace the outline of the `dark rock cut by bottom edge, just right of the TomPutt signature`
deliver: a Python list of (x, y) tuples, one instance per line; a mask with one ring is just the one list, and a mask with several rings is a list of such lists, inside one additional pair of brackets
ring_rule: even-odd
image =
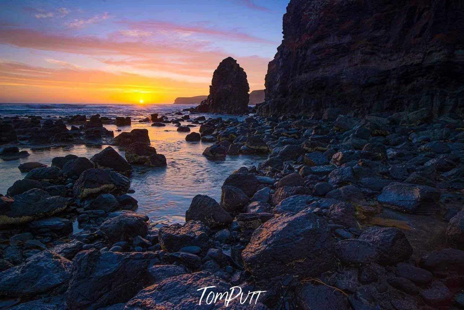
[(347, 298), (337, 290), (322, 284), (302, 284), (295, 290), (298, 309), (348, 310)]

